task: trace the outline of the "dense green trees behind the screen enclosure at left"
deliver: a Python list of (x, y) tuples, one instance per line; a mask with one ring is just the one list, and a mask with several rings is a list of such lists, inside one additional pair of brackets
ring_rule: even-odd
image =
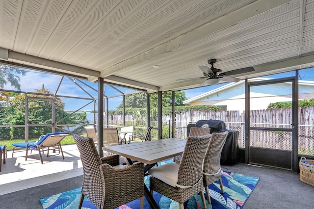
[[(50, 95), (37, 95), (27, 94), (27, 97), (31, 99), (28, 101), (28, 122), (29, 124), (52, 124), (52, 102), (43, 100), (53, 99), (52, 92), (45, 89), (43, 84), (42, 89), (36, 89), (35, 93), (43, 93)], [(55, 120), (58, 121), (70, 113), (64, 111), (64, 103), (60, 98), (55, 97)], [(10, 106), (1, 107), (1, 125), (24, 125), (25, 124), (25, 94), (17, 95), (12, 101)], [(86, 113), (75, 113), (68, 118), (61, 121), (60, 124), (83, 124), (86, 123)], [(24, 128), (7, 128), (5, 131), (0, 132), (0, 138), (6, 138), (8, 136), (13, 138), (24, 138)], [(37, 138), (43, 133), (51, 132), (51, 127), (29, 127), (29, 138)]]

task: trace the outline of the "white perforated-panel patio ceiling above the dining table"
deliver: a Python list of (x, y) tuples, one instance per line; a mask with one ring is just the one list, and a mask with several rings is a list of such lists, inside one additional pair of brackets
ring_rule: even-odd
[[(314, 66), (314, 0), (0, 0), (0, 59), (149, 92)], [(160, 66), (153, 68), (154, 65)]]

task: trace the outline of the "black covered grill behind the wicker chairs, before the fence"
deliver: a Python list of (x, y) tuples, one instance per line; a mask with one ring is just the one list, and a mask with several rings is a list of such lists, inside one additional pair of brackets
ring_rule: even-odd
[[(210, 128), (210, 133), (228, 131), (227, 140), (221, 153), (221, 164), (230, 165), (236, 163), (238, 160), (238, 148), (237, 143), (239, 137), (239, 131), (231, 131), (226, 129), (226, 124), (219, 120), (199, 120), (196, 122), (195, 127), (207, 126)], [(189, 132), (189, 128), (188, 128)]]

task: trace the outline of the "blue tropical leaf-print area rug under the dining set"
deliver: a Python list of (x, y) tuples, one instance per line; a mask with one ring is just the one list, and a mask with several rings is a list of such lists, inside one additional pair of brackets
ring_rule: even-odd
[[(249, 198), (259, 178), (242, 174), (221, 171), (224, 194), (221, 194), (218, 181), (209, 185), (211, 205), (206, 201), (208, 209), (241, 209)], [(144, 178), (145, 184), (149, 188), (149, 176)], [(77, 209), (80, 198), (80, 187), (60, 194), (41, 198), (40, 202), (44, 209)], [(204, 189), (205, 191), (205, 189)], [(206, 195), (205, 195), (206, 196)], [(179, 204), (157, 192), (154, 192), (154, 199), (160, 209), (177, 209)], [(145, 209), (150, 206), (144, 198)], [(96, 209), (96, 207), (85, 197), (83, 209)], [(134, 200), (117, 209), (139, 209), (139, 199)], [(186, 209), (203, 209), (200, 195), (195, 195), (184, 203)]]

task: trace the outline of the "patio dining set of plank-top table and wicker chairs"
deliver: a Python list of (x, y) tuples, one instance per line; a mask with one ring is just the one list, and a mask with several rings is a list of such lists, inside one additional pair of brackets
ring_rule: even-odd
[[(102, 149), (111, 155), (102, 158), (92, 138), (74, 134), (84, 170), (79, 208), (87, 197), (97, 208), (109, 209), (140, 198), (143, 209), (145, 196), (150, 207), (158, 209), (154, 191), (177, 201), (180, 209), (200, 192), (207, 208), (203, 188), (209, 204), (209, 184), (219, 180), (223, 192), (220, 155), (228, 136), (227, 131), (209, 131), (193, 127), (187, 140), (168, 138), (104, 146)], [(120, 156), (126, 158), (127, 165), (120, 164)], [(157, 165), (169, 158), (174, 162)], [(144, 176), (148, 175), (150, 188), (144, 184)]]

